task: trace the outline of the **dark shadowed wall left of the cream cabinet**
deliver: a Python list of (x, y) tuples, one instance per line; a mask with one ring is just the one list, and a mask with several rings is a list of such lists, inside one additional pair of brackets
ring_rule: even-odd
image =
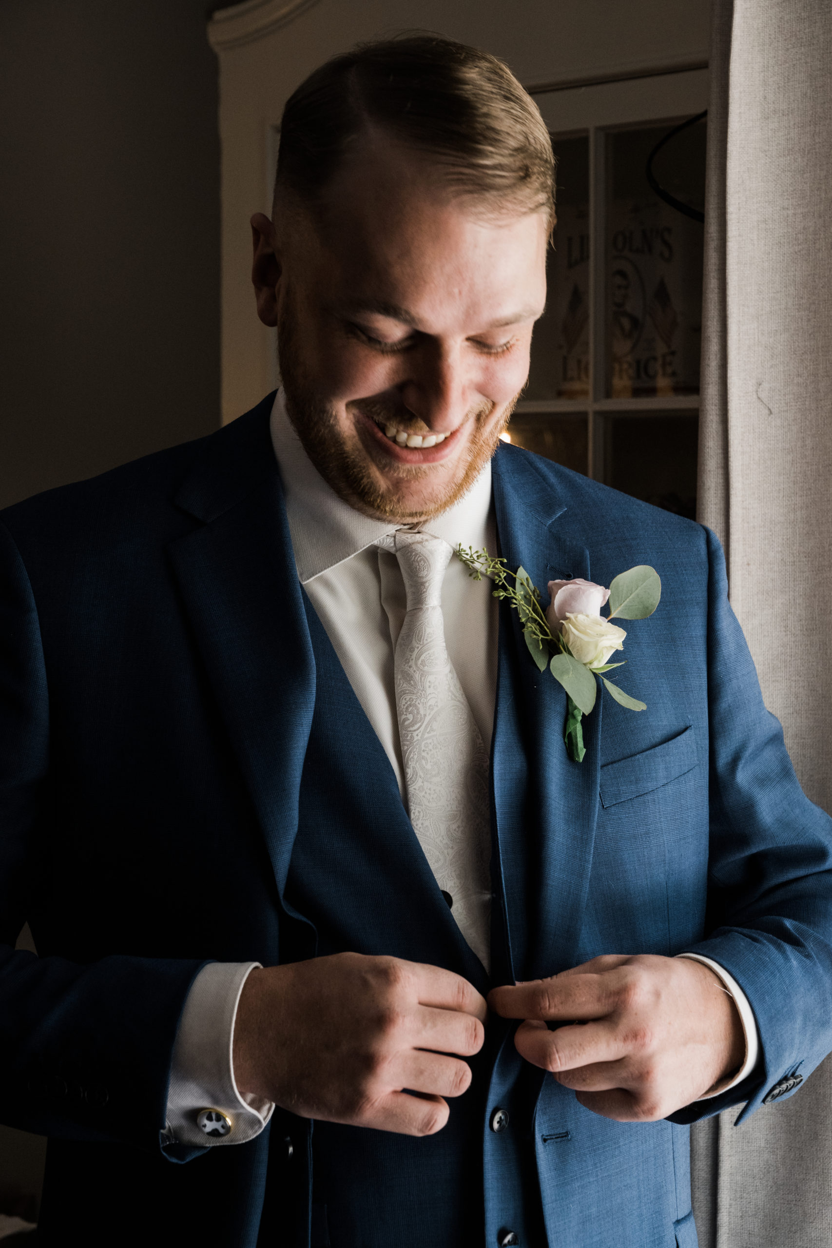
[(0, 507), (220, 424), (217, 7), (0, 4)]

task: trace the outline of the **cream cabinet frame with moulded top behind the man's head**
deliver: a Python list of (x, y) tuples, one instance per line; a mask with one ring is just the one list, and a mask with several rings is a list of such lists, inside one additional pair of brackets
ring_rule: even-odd
[(702, 62), (709, 24), (709, 0), (248, 0), (217, 14), (223, 421), (273, 382), (273, 337), (248, 281), (248, 218), (269, 210), (273, 127), (316, 66), (358, 40), (418, 27), (485, 47), (536, 86)]

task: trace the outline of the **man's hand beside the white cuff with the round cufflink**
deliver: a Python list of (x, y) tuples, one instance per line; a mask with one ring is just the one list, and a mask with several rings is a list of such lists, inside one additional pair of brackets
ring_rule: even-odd
[(481, 1048), (485, 1015), (459, 975), (397, 957), (337, 953), (252, 971), (235, 1078), (242, 1093), (304, 1118), (432, 1136), (448, 1121), (444, 1097), (470, 1083), (459, 1058)]

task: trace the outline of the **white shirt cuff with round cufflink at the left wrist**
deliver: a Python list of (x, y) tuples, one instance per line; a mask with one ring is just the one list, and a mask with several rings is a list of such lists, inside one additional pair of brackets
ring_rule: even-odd
[(258, 1136), (272, 1101), (241, 1096), (233, 1037), (243, 983), (259, 962), (208, 962), (191, 985), (173, 1046), (167, 1091), (167, 1143), (243, 1144)]

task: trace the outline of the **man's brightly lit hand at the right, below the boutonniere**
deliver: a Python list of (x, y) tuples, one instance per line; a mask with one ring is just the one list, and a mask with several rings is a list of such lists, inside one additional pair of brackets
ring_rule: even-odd
[[(745, 1033), (732, 997), (685, 957), (595, 957), (550, 980), (494, 988), (489, 1005), (524, 1018), (526, 1061), (617, 1122), (666, 1118), (737, 1070)], [(565, 1026), (549, 1031), (546, 1022)]]

